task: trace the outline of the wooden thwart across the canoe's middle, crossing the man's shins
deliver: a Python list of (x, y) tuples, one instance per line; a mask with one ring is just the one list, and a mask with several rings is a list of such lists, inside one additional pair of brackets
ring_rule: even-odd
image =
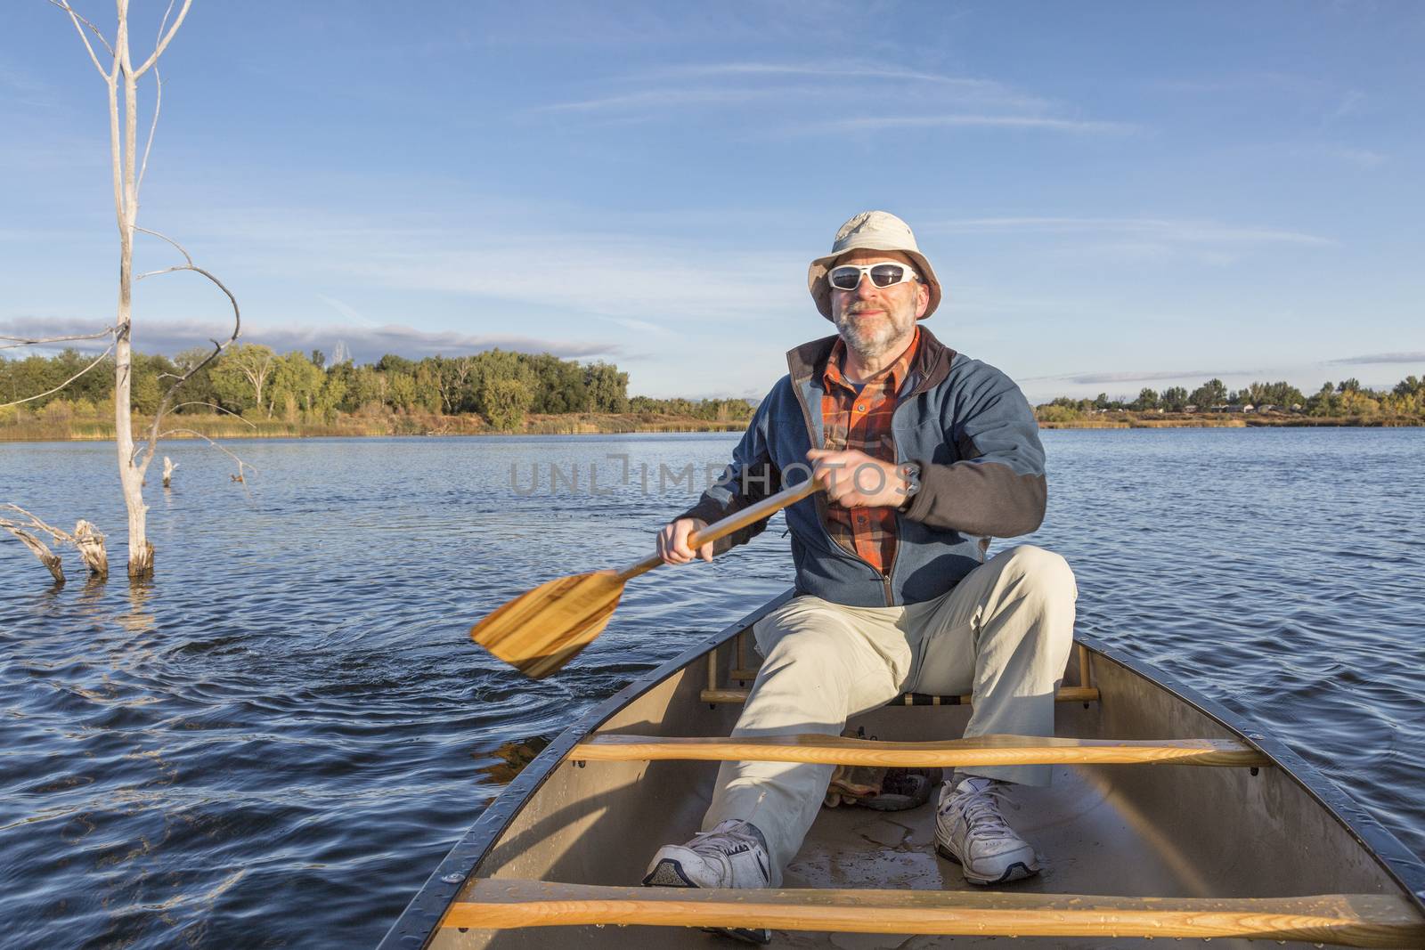
[(604, 762), (811, 762), (885, 768), (1134, 762), (1271, 765), (1265, 755), (1234, 739), (1063, 739), (1030, 735), (982, 735), (942, 742), (876, 742), (821, 734), (755, 738), (596, 735), (576, 745), (569, 758)]

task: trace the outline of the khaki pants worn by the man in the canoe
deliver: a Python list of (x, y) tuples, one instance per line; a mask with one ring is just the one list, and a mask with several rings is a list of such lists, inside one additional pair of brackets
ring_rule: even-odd
[[(848, 716), (902, 692), (973, 694), (968, 736), (1053, 735), (1077, 594), (1062, 557), (1020, 546), (923, 604), (842, 607), (797, 597), (752, 628), (765, 661), (732, 735), (839, 735)], [(831, 773), (829, 765), (724, 762), (703, 830), (730, 818), (751, 822), (779, 880)], [(1047, 765), (962, 773), (1049, 783)]]

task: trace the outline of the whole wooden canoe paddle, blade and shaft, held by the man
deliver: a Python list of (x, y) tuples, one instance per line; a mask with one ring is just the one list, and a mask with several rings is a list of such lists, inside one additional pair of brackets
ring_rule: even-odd
[[(732, 531), (770, 518), (788, 504), (821, 490), (808, 479), (715, 521), (688, 537), (697, 550)], [(603, 632), (630, 580), (663, 564), (654, 554), (621, 571), (594, 571), (561, 577), (520, 594), (470, 628), (470, 640), (510, 664), (530, 679), (543, 679), (579, 655)]]

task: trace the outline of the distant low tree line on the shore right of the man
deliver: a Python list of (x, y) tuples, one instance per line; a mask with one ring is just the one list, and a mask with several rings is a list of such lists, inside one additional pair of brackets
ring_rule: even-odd
[(1109, 399), (1099, 393), (1096, 399), (1070, 399), (1060, 396), (1039, 406), (1043, 422), (1072, 422), (1092, 412), (1223, 412), (1228, 407), (1253, 406), (1255, 410), (1301, 413), (1320, 419), (1394, 416), (1425, 419), (1425, 380), (1406, 376), (1392, 389), (1374, 390), (1361, 386), (1358, 379), (1340, 383), (1322, 383), (1321, 389), (1307, 396), (1287, 382), (1251, 383), (1230, 390), (1220, 379), (1210, 379), (1188, 392), (1183, 386), (1171, 386), (1161, 393), (1144, 387), (1139, 397)]

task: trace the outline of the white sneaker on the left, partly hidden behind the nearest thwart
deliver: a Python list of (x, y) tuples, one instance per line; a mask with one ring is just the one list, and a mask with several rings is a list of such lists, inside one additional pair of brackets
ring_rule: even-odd
[[(778, 875), (779, 877), (779, 875)], [(779, 880), (777, 883), (781, 883)], [(727, 819), (687, 845), (664, 845), (648, 863), (644, 887), (771, 887), (771, 859), (755, 825)], [(762, 927), (712, 927), (747, 943), (771, 943)]]

